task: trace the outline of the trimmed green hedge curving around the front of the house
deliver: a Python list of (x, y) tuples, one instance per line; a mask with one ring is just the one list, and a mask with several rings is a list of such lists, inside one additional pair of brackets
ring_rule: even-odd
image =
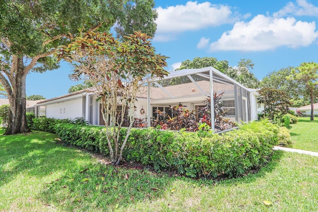
[[(33, 126), (42, 122), (41, 119), (35, 118)], [(48, 131), (56, 132), (65, 142), (105, 155), (109, 153), (105, 127), (75, 125), (61, 120), (52, 121), (53, 125), (48, 126), (47, 121), (43, 122), (39, 125), (46, 125)], [(284, 140), (284, 134), (279, 135), (280, 128), (268, 120), (244, 124), (240, 129), (223, 134), (205, 131), (205, 128), (197, 132), (134, 128), (124, 158), (153, 165), (155, 169), (177, 170), (190, 177), (220, 174), (232, 177), (263, 165), (273, 146)], [(121, 136), (126, 130), (122, 129)]]

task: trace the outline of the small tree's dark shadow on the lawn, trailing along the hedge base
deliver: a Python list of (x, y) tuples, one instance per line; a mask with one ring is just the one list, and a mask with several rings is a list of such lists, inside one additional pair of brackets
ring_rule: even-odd
[[(232, 186), (254, 182), (274, 171), (283, 155), (283, 151), (275, 151), (270, 161), (257, 173), (251, 172), (247, 176), (220, 180), (218, 183)], [(215, 180), (168, 177), (148, 170), (125, 169), (99, 163), (82, 168), (81, 171), (69, 170), (59, 181), (49, 184), (41, 198), (49, 204), (63, 204), (63, 210), (67, 211), (107, 211), (118, 207), (125, 211), (137, 202), (157, 200), (170, 194), (176, 180), (198, 188), (202, 184), (213, 186), (216, 183)]]

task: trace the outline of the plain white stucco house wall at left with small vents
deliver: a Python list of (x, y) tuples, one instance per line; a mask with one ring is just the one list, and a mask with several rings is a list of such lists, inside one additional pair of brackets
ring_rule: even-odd
[(46, 106), (46, 117), (77, 118), (82, 116), (82, 99), (70, 100)]

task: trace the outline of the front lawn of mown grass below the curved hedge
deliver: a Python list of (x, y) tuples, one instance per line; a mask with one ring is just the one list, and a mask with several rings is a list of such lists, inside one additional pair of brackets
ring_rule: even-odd
[(102, 165), (56, 139), (46, 132), (0, 136), (0, 211), (318, 208), (318, 157), (275, 151), (257, 174), (216, 182)]

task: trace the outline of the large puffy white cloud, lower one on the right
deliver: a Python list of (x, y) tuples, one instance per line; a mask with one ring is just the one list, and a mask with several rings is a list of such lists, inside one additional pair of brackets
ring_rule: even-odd
[(237, 22), (231, 31), (210, 44), (210, 51), (265, 51), (280, 46), (308, 46), (318, 37), (316, 23), (296, 21), (293, 17), (274, 18), (257, 15), (249, 22)]

